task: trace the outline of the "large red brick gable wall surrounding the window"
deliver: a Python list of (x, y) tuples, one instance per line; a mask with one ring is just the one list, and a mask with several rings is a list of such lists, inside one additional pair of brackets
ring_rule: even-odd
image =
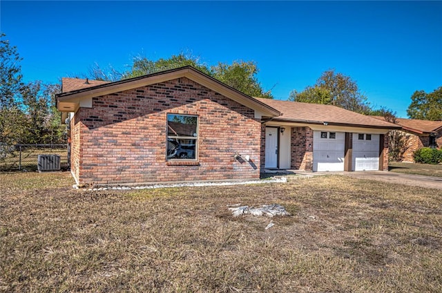
[[(198, 115), (198, 163), (166, 162), (166, 114)], [(93, 98), (73, 129), (80, 182), (93, 185), (259, 178), (260, 121), (223, 95), (180, 78)], [(78, 144), (78, 140), (73, 140)], [(73, 148), (78, 148), (75, 146)], [(250, 155), (238, 162), (233, 155)], [(78, 159), (79, 158), (79, 159)], [(79, 167), (74, 166), (79, 160)]]

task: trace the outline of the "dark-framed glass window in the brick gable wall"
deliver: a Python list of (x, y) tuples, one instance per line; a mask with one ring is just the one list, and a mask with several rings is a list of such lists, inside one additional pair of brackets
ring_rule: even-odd
[(191, 115), (167, 115), (167, 159), (196, 158), (198, 117)]

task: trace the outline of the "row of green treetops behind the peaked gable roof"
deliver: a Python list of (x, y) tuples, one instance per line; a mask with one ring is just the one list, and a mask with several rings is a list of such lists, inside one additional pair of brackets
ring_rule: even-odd
[(91, 79), (113, 82), (119, 79), (148, 75), (182, 66), (192, 66), (246, 95), (273, 98), (271, 91), (264, 91), (258, 81), (256, 75), (258, 75), (259, 69), (255, 62), (235, 61), (232, 64), (219, 62), (216, 66), (209, 66), (201, 62), (200, 57), (184, 53), (172, 55), (167, 59), (160, 58), (157, 60), (147, 59), (138, 55), (133, 58), (130, 70), (124, 73), (119, 73), (112, 67), (102, 69), (98, 64), (95, 64), (89, 70), (88, 76)]

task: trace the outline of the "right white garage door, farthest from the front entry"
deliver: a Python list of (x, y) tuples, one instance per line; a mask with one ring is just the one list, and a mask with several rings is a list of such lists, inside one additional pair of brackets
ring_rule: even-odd
[(379, 169), (379, 135), (353, 133), (353, 171)]

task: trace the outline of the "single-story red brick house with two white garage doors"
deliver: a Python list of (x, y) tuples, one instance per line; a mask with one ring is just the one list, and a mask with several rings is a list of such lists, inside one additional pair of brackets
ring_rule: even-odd
[(259, 178), (269, 169), (386, 170), (400, 126), (335, 106), (256, 99), (191, 66), (97, 82), (63, 79), (77, 183)]

